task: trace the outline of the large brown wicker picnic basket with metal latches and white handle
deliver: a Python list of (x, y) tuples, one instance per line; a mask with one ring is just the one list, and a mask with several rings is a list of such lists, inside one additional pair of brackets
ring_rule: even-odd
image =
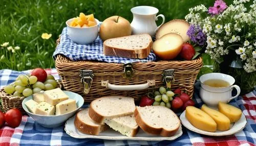
[[(63, 88), (81, 94), (86, 103), (108, 95), (130, 96), (138, 101), (148, 90), (170, 85), (172, 89), (181, 88), (191, 97), (194, 83), (202, 67), (202, 58), (191, 61), (137, 62), (127, 65), (71, 61), (65, 56), (58, 55), (55, 67), (61, 77)], [(145, 84), (150, 87), (141, 89)]]

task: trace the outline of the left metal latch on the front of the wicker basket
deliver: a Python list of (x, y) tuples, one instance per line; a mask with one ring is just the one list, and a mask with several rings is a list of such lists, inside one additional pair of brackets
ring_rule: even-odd
[(93, 70), (79, 70), (80, 82), (83, 85), (83, 92), (88, 94), (93, 83)]

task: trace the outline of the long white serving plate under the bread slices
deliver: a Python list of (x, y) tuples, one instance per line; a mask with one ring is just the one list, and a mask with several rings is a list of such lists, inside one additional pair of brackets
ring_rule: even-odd
[(104, 132), (101, 132), (99, 135), (88, 135), (88, 134), (83, 134), (79, 132), (75, 125), (74, 125), (74, 120), (75, 116), (69, 118), (66, 121), (65, 128), (64, 130), (68, 135), (74, 138), (95, 138), (95, 139), (108, 139), (108, 140), (147, 140), (147, 141), (162, 141), (162, 140), (174, 140), (182, 135), (182, 129), (181, 126), (179, 130), (176, 132), (174, 136), (171, 137), (162, 137), (158, 135), (150, 135), (145, 132), (143, 132), (142, 129), (139, 129), (138, 134), (135, 137), (127, 137), (119, 132), (113, 130), (113, 129), (108, 129)]

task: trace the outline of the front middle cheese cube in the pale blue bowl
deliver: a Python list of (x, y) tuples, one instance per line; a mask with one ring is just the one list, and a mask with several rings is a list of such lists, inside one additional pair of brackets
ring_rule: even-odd
[(41, 102), (36, 106), (35, 114), (54, 115), (54, 113), (55, 113), (55, 106), (52, 106), (47, 102)]

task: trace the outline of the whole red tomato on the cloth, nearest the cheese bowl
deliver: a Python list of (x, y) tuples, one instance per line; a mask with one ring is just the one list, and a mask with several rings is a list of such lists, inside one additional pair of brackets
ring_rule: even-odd
[(16, 108), (10, 109), (5, 113), (5, 120), (8, 126), (16, 128), (22, 122), (22, 112)]

